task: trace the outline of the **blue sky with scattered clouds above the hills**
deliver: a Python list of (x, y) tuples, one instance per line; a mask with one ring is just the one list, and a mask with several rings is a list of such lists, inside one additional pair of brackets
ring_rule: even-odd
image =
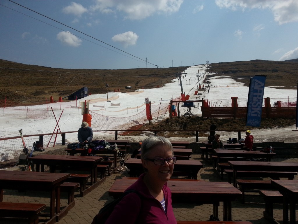
[(14, 2), (30, 10), (0, 0), (0, 59), (23, 64), (125, 69), (298, 58), (297, 0)]

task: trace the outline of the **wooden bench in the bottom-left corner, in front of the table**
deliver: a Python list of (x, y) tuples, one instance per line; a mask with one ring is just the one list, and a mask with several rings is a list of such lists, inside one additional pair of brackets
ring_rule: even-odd
[(27, 218), (29, 224), (38, 224), (38, 215), (44, 209), (45, 204), (0, 202), (0, 217)]

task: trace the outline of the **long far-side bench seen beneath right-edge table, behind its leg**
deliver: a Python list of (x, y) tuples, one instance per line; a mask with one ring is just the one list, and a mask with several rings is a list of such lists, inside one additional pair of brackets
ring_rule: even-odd
[[(233, 176), (233, 170), (225, 169), (224, 172), (228, 174), (228, 182), (231, 183), (231, 177)], [(288, 178), (293, 180), (297, 172), (287, 171), (237, 171), (237, 177), (270, 177), (271, 179)]]

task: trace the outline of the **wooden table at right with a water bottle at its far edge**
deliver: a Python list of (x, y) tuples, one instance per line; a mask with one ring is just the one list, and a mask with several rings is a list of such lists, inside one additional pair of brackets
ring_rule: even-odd
[(234, 157), (234, 158), (265, 158), (270, 161), (275, 153), (265, 153), (261, 151), (246, 151), (246, 150), (232, 150), (232, 149), (213, 149), (215, 154), (220, 157)]

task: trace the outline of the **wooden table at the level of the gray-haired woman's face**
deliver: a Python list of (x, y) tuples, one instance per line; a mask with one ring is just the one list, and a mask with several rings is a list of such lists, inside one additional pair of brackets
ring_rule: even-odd
[[(129, 158), (125, 162), (125, 165), (130, 170), (130, 177), (136, 177), (138, 174), (144, 172), (141, 159)], [(202, 167), (203, 164), (198, 160), (177, 160), (174, 165), (174, 173), (177, 173), (178, 175), (190, 176), (191, 179), (197, 179), (198, 171)]]

